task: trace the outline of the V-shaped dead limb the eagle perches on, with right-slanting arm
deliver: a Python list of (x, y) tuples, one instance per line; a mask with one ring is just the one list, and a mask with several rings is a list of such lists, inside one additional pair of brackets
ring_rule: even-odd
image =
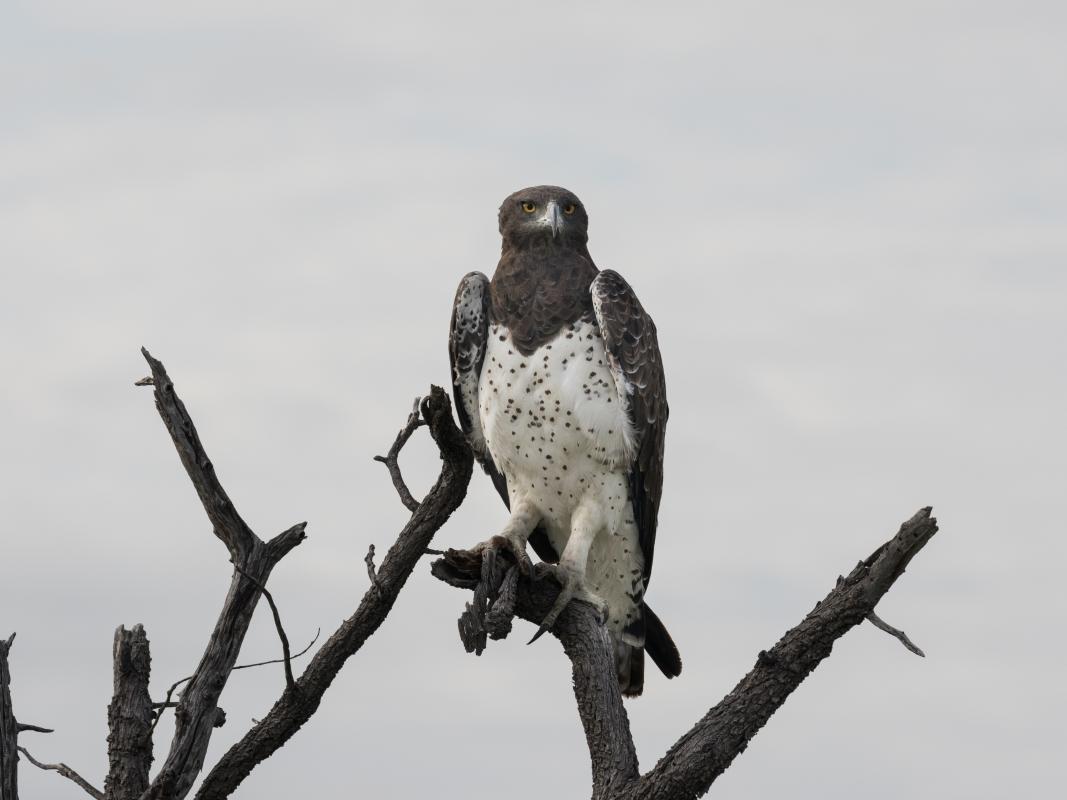
[[(937, 521), (929, 508), (904, 523), (895, 537), (860, 561), (847, 577), (839, 578), (799, 625), (769, 651), (761, 652), (751, 672), (644, 775), (637, 770), (603, 626), (591, 606), (572, 603), (552, 633), (571, 659), (574, 695), (589, 745), (594, 800), (688, 800), (706, 793), (793, 690), (830, 655), (833, 642), (867, 619), (936, 532)], [(496, 558), (509, 556), (500, 551)], [(484, 554), (449, 550), (432, 569), (452, 586), (478, 591), (487, 579), (495, 579), (487, 578), (483, 564)], [(503, 576), (509, 573), (497, 573), (503, 585)], [(514, 613), (535, 623), (542, 620), (558, 591), (555, 581), (530, 582), (520, 576)], [(500, 596), (497, 588), (490, 587), (488, 593)], [(493, 613), (493, 607), (490, 603), (483, 619)], [(469, 649), (466, 639), (464, 644)]]

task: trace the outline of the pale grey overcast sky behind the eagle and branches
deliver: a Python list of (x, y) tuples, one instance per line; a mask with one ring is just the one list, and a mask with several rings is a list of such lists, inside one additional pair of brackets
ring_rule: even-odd
[[(448, 381), (500, 199), (559, 183), (667, 366), (649, 597), (685, 670), (628, 704), (642, 767), (933, 505), (879, 606), (928, 657), (851, 631), (714, 796), (1062, 789), (1065, 39), (1062, 2), (7, 0), (0, 635), (16, 713), (57, 729), (23, 743), (102, 784), (115, 626), (162, 695), (226, 590), (138, 349), (259, 534), (308, 521), (271, 579), (297, 646), (407, 517), (371, 457)], [(420, 434), (413, 486), (436, 464)], [(437, 545), (504, 519), (476, 476)], [(559, 645), (468, 656), (428, 569), (237, 798), (585, 796)], [(277, 651), (265, 606), (243, 657)], [(233, 676), (209, 763), (282, 687)]]

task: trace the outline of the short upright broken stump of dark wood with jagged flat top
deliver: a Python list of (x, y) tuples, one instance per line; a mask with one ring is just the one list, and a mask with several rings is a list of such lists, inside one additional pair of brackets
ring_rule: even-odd
[(114, 692), (108, 706), (107, 800), (137, 800), (148, 788), (152, 768), (152, 654), (144, 627), (115, 630), (112, 650)]

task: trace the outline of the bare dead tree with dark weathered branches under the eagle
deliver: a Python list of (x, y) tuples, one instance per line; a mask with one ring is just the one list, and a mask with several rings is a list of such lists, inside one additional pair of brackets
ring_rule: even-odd
[[(181, 800), (204, 769), (212, 731), (225, 722), (219, 699), (230, 673), (246, 666), (237, 658), (260, 597), (266, 597), (282, 646), (285, 685), (270, 711), (212, 766), (196, 800), (222, 800), (300, 730), (322, 701), (346, 661), (384, 622), (433, 535), (466, 495), (473, 471), (471, 449), (452, 419), (451, 404), (439, 387), (415, 401), (404, 427), (384, 457), (401, 502), (411, 511), (408, 524), (375, 565), (371, 545), (365, 560), (370, 586), (354, 613), (327, 639), (299, 677), (292, 671), (288, 637), (273, 596), (267, 589), (272, 570), (304, 541), (305, 523), (262, 540), (244, 523), (214, 474), (185, 404), (163, 365), (142, 351), (152, 377), (139, 385), (155, 387), (156, 407), (178, 451), (204, 510), (234, 565), (222, 612), (195, 672), (153, 701), (148, 692), (150, 652), (141, 625), (115, 631), (114, 693), (108, 707), (108, 763), (103, 790), (92, 786), (65, 764), (36, 761), (18, 742), (19, 734), (49, 731), (17, 722), (11, 700), (9, 654), (14, 635), (0, 640), (0, 800), (17, 800), (17, 765), (21, 752), (35, 767), (58, 772), (94, 798), (106, 800)], [(412, 434), (428, 428), (441, 455), (441, 471), (421, 500), (416, 500), (400, 471), (398, 455)], [(659, 763), (643, 775), (619, 692), (607, 631), (589, 605), (570, 604), (552, 628), (571, 660), (574, 695), (585, 727), (592, 768), (594, 800), (679, 800), (696, 798), (742, 753), (790, 693), (826, 658), (833, 642), (863, 620), (896, 636), (922, 655), (899, 630), (874, 614), (875, 605), (904, 573), (911, 558), (937, 531), (930, 509), (922, 509), (899, 532), (819, 601), (815, 608), (768, 651), (714, 708), (681, 736)], [(480, 654), (489, 639), (503, 639), (514, 617), (539, 622), (559, 592), (554, 579), (538, 571), (523, 574), (508, 553), (489, 547), (448, 550), (432, 573), (451, 586), (474, 591), (459, 626), (464, 646)], [(314, 643), (314, 641), (313, 641)], [(310, 646), (310, 645), (308, 645)], [(178, 699), (173, 700), (179, 687)], [(174, 708), (175, 731), (155, 778), (153, 734), (160, 717)]]

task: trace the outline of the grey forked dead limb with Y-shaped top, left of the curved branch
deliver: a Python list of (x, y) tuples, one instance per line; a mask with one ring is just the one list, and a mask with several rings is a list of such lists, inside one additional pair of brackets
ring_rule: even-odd
[(175, 732), (163, 766), (144, 800), (181, 800), (204, 766), (211, 732), (219, 724), (219, 695), (237, 661), (252, 614), (275, 564), (304, 538), (306, 523), (294, 525), (264, 542), (245, 524), (219, 482), (196, 428), (161, 362), (142, 348), (152, 368), (156, 409), (200, 496), (214, 534), (234, 563), (234, 577), (214, 630), (193, 677), (175, 709)]

